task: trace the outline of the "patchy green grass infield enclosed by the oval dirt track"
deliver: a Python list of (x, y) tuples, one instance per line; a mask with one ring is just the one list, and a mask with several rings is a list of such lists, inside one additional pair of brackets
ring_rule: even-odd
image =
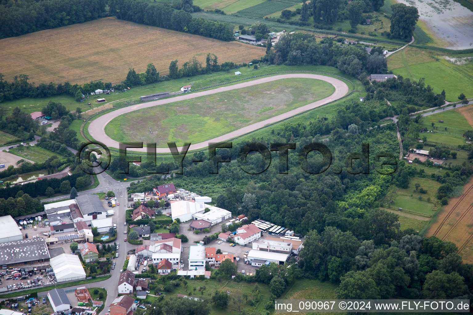
[(132, 111), (110, 121), (105, 132), (122, 143), (156, 142), (159, 147), (167, 141), (201, 142), (321, 100), (334, 90), (321, 80), (281, 79)]

